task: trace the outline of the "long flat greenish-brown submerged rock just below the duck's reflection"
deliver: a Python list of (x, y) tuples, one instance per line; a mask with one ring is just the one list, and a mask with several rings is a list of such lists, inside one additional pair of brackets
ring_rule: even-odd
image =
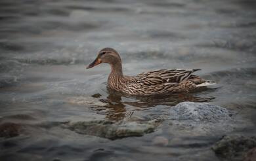
[(112, 122), (108, 120), (94, 120), (89, 122), (74, 122), (69, 124), (70, 130), (79, 134), (95, 135), (108, 139), (118, 139), (130, 136), (142, 136), (154, 132), (154, 121), (139, 122)]

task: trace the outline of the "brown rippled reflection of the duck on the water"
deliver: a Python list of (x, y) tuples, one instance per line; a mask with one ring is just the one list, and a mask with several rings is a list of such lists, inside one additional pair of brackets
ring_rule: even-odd
[[(96, 94), (95, 94), (96, 96)], [(101, 96), (101, 95), (100, 95)], [(100, 96), (97, 96), (99, 98)], [(100, 99), (106, 106), (106, 118), (110, 120), (132, 120), (137, 111), (144, 111), (156, 107), (158, 105), (174, 106), (183, 101), (206, 102), (214, 98), (198, 97), (194, 94), (179, 93), (158, 96), (129, 96), (116, 92), (108, 88), (108, 96), (106, 99)], [(135, 116), (136, 117), (136, 116)]]

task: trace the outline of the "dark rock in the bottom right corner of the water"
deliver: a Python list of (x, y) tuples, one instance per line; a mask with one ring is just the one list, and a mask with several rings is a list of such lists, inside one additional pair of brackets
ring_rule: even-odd
[[(256, 137), (244, 137), (241, 135), (224, 136), (221, 141), (213, 145), (212, 149), (224, 160), (244, 160), (253, 154), (250, 149), (255, 149)], [(254, 150), (255, 152), (255, 150)], [(247, 154), (246, 154), (247, 153)], [(255, 153), (254, 153), (255, 155)], [(255, 159), (255, 158), (254, 158)]]

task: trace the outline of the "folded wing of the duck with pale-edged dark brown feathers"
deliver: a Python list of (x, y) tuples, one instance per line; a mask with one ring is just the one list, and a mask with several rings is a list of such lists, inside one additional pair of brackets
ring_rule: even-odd
[(200, 69), (160, 69), (137, 75), (137, 81), (147, 86), (165, 83), (179, 83)]

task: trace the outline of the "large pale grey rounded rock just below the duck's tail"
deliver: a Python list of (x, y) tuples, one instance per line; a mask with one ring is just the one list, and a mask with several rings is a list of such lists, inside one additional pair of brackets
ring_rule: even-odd
[(234, 114), (218, 105), (185, 101), (171, 107), (168, 120), (174, 134), (222, 135), (242, 123), (232, 118)]

